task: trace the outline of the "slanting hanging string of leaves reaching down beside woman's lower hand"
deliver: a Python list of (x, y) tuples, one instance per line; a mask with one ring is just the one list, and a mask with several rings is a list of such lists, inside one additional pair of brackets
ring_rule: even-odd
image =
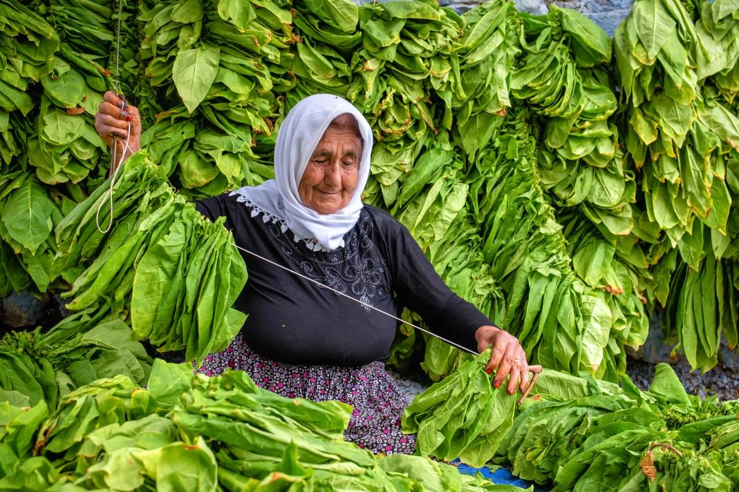
[(539, 186), (535, 149), (528, 111), (514, 108), (469, 170), (483, 255), (505, 292), (502, 326), (537, 364), (616, 378), (613, 358), (622, 349), (605, 350), (613, 314), (573, 273), (565, 237)]

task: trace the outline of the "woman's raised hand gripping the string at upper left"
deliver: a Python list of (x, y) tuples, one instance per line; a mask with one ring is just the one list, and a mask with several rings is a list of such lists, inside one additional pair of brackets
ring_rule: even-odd
[(111, 172), (141, 148), (141, 118), (138, 108), (126, 103), (126, 100), (113, 91), (103, 94), (103, 102), (95, 114), (95, 131), (110, 148)]

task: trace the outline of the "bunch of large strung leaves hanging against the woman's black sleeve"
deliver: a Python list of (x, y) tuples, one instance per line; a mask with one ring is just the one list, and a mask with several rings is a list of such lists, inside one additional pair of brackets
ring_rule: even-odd
[(197, 366), (228, 347), (246, 319), (232, 308), (246, 283), (246, 266), (224, 221), (208, 221), (185, 205), (136, 256), (134, 335), (162, 352), (184, 349), (185, 361)]

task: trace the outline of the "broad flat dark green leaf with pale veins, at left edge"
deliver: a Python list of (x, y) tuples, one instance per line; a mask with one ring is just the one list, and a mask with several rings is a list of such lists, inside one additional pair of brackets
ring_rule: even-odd
[(13, 240), (35, 253), (53, 227), (54, 202), (35, 178), (13, 191), (2, 207), (1, 220)]

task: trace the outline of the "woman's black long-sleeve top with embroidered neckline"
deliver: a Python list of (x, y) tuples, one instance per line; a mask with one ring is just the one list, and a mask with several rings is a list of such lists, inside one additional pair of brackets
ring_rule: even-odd
[[(408, 229), (365, 205), (345, 246), (314, 252), (281, 221), (238, 193), (199, 201), (205, 217), (226, 217), (237, 246), (400, 316), (420, 314), (435, 333), (477, 350), (474, 332), (493, 323), (440, 279)], [(290, 364), (360, 366), (386, 361), (398, 322), (327, 288), (241, 252), (248, 281), (236, 308), (248, 314), (245, 341), (262, 356)]]

